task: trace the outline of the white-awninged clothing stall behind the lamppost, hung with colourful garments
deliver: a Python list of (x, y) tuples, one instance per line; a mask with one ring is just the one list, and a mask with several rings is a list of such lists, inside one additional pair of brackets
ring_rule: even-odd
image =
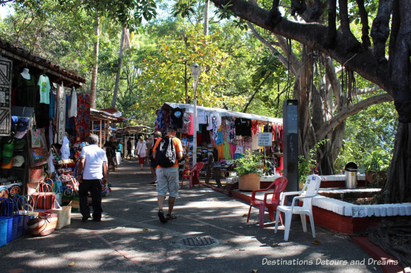
[[(265, 153), (274, 162), (273, 173), (282, 171), (283, 119), (197, 106), (197, 120), (194, 121), (193, 112), (192, 104), (165, 102), (156, 112), (155, 130), (164, 132), (167, 125), (177, 125), (183, 148), (189, 148), (186, 150), (189, 164), (186, 165), (192, 166), (193, 156), (197, 157), (197, 162), (204, 163), (200, 175), (206, 174), (210, 155), (213, 155), (213, 165), (225, 176), (233, 168), (233, 159), (255, 150)], [(193, 122), (197, 122), (197, 132), (193, 132)], [(273, 133), (271, 146), (258, 146), (260, 132)], [(197, 143), (193, 143), (194, 133)], [(197, 148), (196, 155), (193, 155), (193, 145)], [(184, 169), (184, 162), (181, 169)]]

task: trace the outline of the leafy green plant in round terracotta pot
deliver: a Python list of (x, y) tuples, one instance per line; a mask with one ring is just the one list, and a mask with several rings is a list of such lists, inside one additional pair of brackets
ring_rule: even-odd
[(244, 157), (234, 160), (234, 170), (239, 176), (239, 190), (254, 191), (260, 189), (260, 176), (263, 175), (263, 170), (260, 169), (261, 162), (261, 156), (250, 151), (247, 151)]

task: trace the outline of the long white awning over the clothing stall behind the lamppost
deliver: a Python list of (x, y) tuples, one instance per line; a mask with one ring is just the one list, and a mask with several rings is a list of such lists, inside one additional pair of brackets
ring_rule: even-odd
[[(165, 109), (179, 107), (181, 109), (184, 109), (186, 112), (189, 112), (189, 113), (194, 112), (193, 104), (164, 102), (162, 107)], [(221, 108), (210, 108), (210, 107), (197, 106), (197, 112), (198, 111), (204, 111), (206, 112), (207, 115), (210, 115), (213, 112), (218, 112), (221, 117), (232, 116), (232, 117), (248, 118), (248, 119), (253, 119), (253, 120), (258, 120), (258, 121), (268, 121), (268, 122), (283, 124), (282, 118), (273, 118), (273, 117), (254, 115), (254, 114), (249, 114), (249, 113), (234, 112), (234, 111), (229, 111), (229, 110), (221, 109)]]

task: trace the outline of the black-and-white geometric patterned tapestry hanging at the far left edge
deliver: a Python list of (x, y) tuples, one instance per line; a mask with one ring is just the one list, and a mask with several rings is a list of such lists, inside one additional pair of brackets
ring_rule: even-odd
[(0, 136), (10, 135), (12, 62), (0, 57)]

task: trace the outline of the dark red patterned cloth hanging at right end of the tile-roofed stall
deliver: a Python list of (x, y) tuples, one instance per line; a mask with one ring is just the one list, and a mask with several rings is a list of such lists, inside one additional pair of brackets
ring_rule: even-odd
[(88, 141), (90, 134), (90, 95), (77, 95), (76, 142)]

